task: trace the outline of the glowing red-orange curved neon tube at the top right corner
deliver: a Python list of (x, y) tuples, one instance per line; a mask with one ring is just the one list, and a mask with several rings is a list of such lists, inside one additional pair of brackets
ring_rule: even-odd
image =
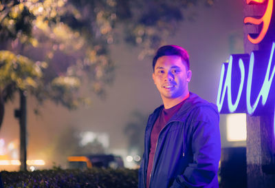
[[(265, 0), (247, 0), (246, 3), (263, 3)], [(260, 43), (263, 40), (263, 37), (265, 37), (265, 34), (267, 33), (267, 30), (270, 26), (270, 20), (271, 20), (271, 16), (272, 16), (272, 11), (273, 11), (273, 0), (268, 1), (267, 3), (267, 8), (265, 10), (265, 14), (263, 14), (263, 17), (261, 17), (260, 19), (255, 19), (252, 17), (245, 17), (244, 19), (244, 23), (252, 23), (254, 25), (260, 25), (261, 23), (263, 23), (263, 28), (259, 34), (259, 36), (256, 37), (256, 39), (253, 39), (250, 34), (248, 34), (248, 40), (251, 43)]]

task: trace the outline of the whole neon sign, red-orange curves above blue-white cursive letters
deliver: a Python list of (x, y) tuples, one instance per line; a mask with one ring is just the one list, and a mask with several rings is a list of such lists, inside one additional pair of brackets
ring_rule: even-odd
[[(221, 66), (217, 95), (220, 113), (247, 113), (267, 115), (273, 119), (275, 136), (275, 17), (274, 0), (247, 0), (248, 5), (265, 6), (263, 16), (245, 17), (245, 24), (258, 25), (259, 34), (248, 34), (253, 45), (265, 46), (264, 52), (232, 54)], [(273, 43), (272, 43), (273, 41)]]

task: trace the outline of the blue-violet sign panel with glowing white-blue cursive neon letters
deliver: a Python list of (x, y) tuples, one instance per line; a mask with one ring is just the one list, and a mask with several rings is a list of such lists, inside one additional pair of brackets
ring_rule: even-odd
[(269, 59), (267, 53), (254, 51), (250, 56), (232, 54), (229, 62), (223, 63), (217, 95), (219, 112), (257, 115), (265, 113), (263, 109), (274, 110), (274, 94), (270, 95), (274, 87), (274, 50), (272, 43)]

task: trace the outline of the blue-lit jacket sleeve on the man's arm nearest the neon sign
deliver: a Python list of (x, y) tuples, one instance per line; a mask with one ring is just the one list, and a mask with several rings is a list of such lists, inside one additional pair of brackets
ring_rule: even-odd
[(221, 157), (219, 114), (214, 109), (202, 107), (192, 117), (192, 163), (177, 176), (171, 188), (219, 187), (217, 172)]

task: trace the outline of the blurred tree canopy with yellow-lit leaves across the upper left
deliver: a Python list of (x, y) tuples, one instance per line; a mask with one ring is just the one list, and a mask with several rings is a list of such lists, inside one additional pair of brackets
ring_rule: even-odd
[(0, 125), (4, 105), (18, 90), (69, 109), (89, 103), (81, 83), (104, 96), (115, 65), (109, 45), (142, 46), (153, 54), (184, 10), (212, 0), (2, 0), (0, 1)]

